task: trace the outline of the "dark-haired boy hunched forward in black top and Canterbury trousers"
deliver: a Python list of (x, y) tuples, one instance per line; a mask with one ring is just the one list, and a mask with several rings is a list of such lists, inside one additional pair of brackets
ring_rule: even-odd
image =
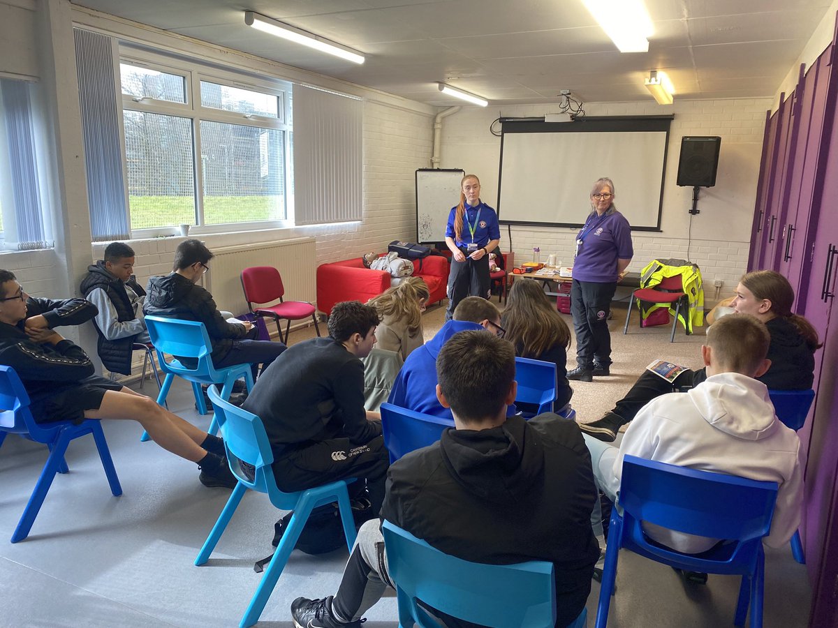
[[(389, 456), (376, 414), (364, 409), (365, 358), (375, 345), (375, 308), (344, 301), (328, 317), (328, 337), (288, 347), (243, 404), (265, 424), (277, 486), (303, 491), (346, 477), (366, 479), (372, 512), (384, 499)], [(355, 482), (350, 490), (363, 489)]]

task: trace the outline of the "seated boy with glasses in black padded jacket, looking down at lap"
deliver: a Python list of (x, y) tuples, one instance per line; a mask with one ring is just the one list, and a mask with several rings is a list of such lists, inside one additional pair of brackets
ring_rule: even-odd
[(212, 362), (218, 368), (234, 364), (257, 365), (262, 371), (285, 351), (282, 342), (254, 340), (256, 327), (251, 322), (230, 323), (215, 306), (212, 295), (198, 281), (209, 270), (214, 255), (198, 239), (186, 239), (174, 253), (174, 270), (168, 275), (148, 280), (148, 296), (142, 310), (146, 314), (204, 323), (212, 342)]

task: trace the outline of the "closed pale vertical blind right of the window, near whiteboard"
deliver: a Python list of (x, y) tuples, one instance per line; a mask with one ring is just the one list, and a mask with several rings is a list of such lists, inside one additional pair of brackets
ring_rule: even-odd
[(363, 101), (294, 85), (294, 223), (363, 216)]

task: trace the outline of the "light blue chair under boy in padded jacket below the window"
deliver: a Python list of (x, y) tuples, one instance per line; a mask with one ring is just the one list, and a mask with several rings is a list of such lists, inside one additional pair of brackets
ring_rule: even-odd
[[(204, 323), (199, 321), (182, 321), (177, 318), (147, 316), (146, 327), (148, 336), (158, 352), (158, 361), (166, 378), (163, 379), (163, 387), (158, 394), (158, 404), (164, 405), (168, 390), (172, 388), (174, 376), (184, 378), (192, 383), (192, 391), (195, 395), (195, 403), (198, 404), (198, 413), (207, 414), (207, 406), (204, 402), (204, 394), (200, 384), (220, 383), (221, 397), (230, 399), (233, 392), (233, 384), (238, 378), (245, 378), (247, 390), (253, 388), (253, 375), (250, 364), (234, 364), (230, 367), (216, 368), (212, 363), (212, 343), (209, 342)], [(181, 358), (192, 358), (197, 360), (195, 368), (189, 368), (180, 363), (180, 360), (171, 359), (168, 362), (164, 353), (180, 356)], [(209, 434), (218, 431), (217, 415), (209, 424)], [(143, 431), (140, 440), (148, 440), (148, 432)]]

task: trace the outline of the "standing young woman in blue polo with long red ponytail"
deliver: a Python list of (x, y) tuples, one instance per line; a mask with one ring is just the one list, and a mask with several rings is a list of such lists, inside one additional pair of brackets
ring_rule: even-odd
[(460, 187), (460, 203), (451, 208), (445, 228), (445, 244), (453, 254), (448, 274), (447, 321), (465, 297), (489, 296), (489, 252), (500, 243), (498, 214), (480, 201), (480, 180), (467, 174)]

